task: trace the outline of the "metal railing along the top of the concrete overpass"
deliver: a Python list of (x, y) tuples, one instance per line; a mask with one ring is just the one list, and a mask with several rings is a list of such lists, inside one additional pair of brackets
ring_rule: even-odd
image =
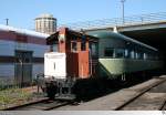
[(81, 30), (81, 29), (86, 30), (86, 29), (95, 29), (95, 28), (97, 29), (112, 28), (112, 27), (126, 25), (126, 24), (152, 23), (158, 21), (166, 21), (166, 12), (125, 17), (124, 22), (122, 18), (113, 18), (113, 19), (66, 23), (66, 24), (60, 24), (59, 27), (69, 27), (73, 30)]

